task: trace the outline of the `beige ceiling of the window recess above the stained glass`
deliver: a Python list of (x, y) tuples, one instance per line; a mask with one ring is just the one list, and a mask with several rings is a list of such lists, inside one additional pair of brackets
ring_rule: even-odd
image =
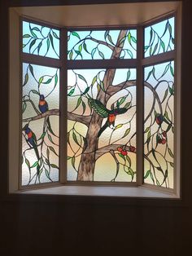
[(181, 2), (137, 2), (98, 5), (15, 7), (19, 15), (59, 26), (102, 26), (141, 24), (176, 11)]

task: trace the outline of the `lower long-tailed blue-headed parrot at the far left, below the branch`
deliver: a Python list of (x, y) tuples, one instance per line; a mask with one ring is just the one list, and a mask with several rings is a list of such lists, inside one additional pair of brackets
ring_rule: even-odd
[(39, 160), (40, 160), (40, 156), (39, 156), (39, 152), (38, 152), (38, 149), (37, 149), (37, 138), (36, 138), (36, 135), (33, 133), (33, 130), (31, 130), (28, 125), (24, 126), (23, 128), (24, 132), (25, 132), (25, 135), (27, 135), (27, 142), (29, 144), (29, 146), (31, 148), (34, 149), (35, 151), (35, 154), (36, 154), (36, 157), (37, 157), (37, 176), (38, 178), (39, 177), (39, 170), (40, 170), (40, 166), (39, 166)]

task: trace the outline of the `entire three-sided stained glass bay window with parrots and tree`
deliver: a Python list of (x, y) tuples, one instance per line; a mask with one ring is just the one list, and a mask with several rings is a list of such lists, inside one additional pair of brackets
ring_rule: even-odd
[[(22, 22), (22, 186), (95, 182), (174, 188), (174, 23), (172, 17), (143, 25), (137, 38), (136, 27), (65, 33)], [(137, 49), (143, 51), (139, 38), (143, 58), (137, 56)], [(62, 121), (60, 106), (68, 115)]]

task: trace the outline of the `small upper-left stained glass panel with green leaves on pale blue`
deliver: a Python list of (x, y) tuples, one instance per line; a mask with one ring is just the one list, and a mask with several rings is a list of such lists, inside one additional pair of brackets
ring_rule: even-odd
[(59, 59), (59, 30), (23, 21), (23, 52)]

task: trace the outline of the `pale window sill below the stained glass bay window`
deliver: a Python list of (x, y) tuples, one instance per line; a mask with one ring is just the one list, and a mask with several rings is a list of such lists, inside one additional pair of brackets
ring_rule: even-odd
[(120, 187), (89, 187), (89, 186), (58, 186), (55, 188), (41, 188), (28, 191), (17, 191), (15, 194), (30, 195), (63, 195), (63, 196), (111, 196), (111, 197), (137, 197), (137, 198), (165, 198), (179, 199), (172, 192), (162, 192), (151, 188), (120, 188)]

